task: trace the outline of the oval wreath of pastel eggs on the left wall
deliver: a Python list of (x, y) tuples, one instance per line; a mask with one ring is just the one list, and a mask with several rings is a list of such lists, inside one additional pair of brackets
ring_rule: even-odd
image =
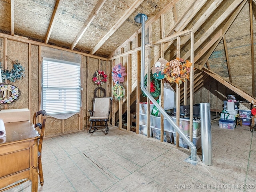
[(18, 100), (20, 90), (11, 84), (0, 83), (0, 104), (10, 104)]

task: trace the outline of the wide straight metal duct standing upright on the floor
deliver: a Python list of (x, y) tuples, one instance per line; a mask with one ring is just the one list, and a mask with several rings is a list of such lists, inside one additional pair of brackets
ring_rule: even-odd
[(210, 103), (200, 103), (202, 162), (212, 165), (212, 130)]

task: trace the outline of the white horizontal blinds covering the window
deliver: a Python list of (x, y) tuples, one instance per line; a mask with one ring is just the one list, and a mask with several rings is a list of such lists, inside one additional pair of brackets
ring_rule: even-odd
[(47, 114), (80, 112), (80, 64), (43, 58), (42, 96)]

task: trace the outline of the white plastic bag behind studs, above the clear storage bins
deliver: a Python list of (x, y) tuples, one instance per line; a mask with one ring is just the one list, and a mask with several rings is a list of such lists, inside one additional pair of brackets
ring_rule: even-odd
[(176, 93), (169, 83), (164, 83), (164, 110), (176, 108)]

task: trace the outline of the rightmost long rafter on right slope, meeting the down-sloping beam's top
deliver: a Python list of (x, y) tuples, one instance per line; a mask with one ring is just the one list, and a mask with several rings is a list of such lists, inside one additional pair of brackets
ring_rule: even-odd
[(244, 0), (240, 6), (238, 6), (238, 8), (236, 8), (236, 10), (232, 13), (232, 15), (228, 18), (228, 21), (225, 23), (224, 27), (222, 28), (222, 36), (221, 38), (219, 38), (214, 46), (212, 46), (212, 48), (210, 50), (208, 50), (207, 54), (204, 56), (204, 59), (202, 60), (200, 66), (196, 66), (196, 68), (198, 69), (202, 69), (203, 66), (205, 65), (205, 63), (208, 61), (208, 59), (210, 58), (210, 56), (212, 55), (212, 53), (214, 52), (214, 50), (216, 49), (216, 47), (218, 46), (218, 44), (220, 43), (220, 41), (222, 40), (222, 37), (224, 36), (224, 34), (226, 34), (226, 32), (228, 31), (228, 29), (230, 28), (231, 24), (234, 22), (236, 16), (238, 16), (238, 14), (240, 13), (240, 11), (242, 10), (242, 8), (244, 7), (244, 4), (247, 2), (247, 0)]

